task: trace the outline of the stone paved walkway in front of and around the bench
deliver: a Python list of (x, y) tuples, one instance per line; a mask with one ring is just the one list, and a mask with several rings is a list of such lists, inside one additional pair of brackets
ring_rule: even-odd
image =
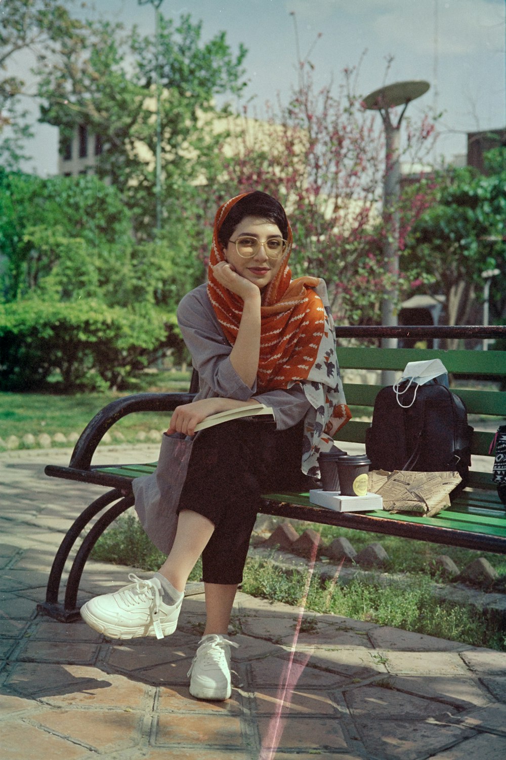
[[(206, 702), (187, 679), (201, 594), (163, 641), (112, 642), (38, 616), (62, 531), (101, 492), (42, 475), (68, 456), (0, 457), (2, 760), (504, 760), (506, 654), (237, 594), (232, 697)], [(99, 455), (119, 458), (112, 446)], [(130, 451), (154, 458), (154, 447)], [(83, 597), (131, 570), (89, 562)]]

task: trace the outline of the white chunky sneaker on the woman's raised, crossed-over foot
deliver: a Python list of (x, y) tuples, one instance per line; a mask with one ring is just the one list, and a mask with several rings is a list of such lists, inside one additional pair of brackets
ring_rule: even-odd
[(164, 590), (158, 578), (143, 581), (134, 573), (128, 578), (132, 581), (130, 586), (83, 604), (80, 610), (83, 620), (109, 638), (163, 638), (174, 633), (184, 595), (175, 604), (164, 604)]

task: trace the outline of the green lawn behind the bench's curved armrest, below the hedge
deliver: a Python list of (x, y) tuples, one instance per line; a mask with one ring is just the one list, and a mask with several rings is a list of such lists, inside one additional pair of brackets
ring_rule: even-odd
[[(159, 372), (142, 376), (142, 382), (128, 392), (83, 393), (72, 396), (36, 393), (0, 393), (0, 437), (42, 432), (81, 433), (92, 417), (117, 398), (143, 391), (187, 391), (189, 372)], [(137, 432), (168, 427), (168, 413), (136, 413), (119, 420), (113, 430), (121, 432), (126, 442), (134, 442)]]

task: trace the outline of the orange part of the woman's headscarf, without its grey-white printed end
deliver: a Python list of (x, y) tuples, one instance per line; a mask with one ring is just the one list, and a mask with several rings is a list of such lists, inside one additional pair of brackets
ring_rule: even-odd
[[(218, 261), (225, 261), (225, 253), (218, 242), (218, 233), (232, 207), (248, 193), (237, 195), (218, 208), (212, 236), (207, 291), (213, 309), (228, 342), (233, 346), (239, 331), (243, 301), (232, 293), (212, 273)], [(322, 302), (314, 288), (319, 277), (291, 279), (288, 267), (292, 245), (291, 227), (288, 225), (288, 246), (278, 272), (266, 287), (260, 314), (260, 360), (257, 385), (259, 391), (288, 388), (294, 381), (305, 380), (316, 361), (319, 343), (325, 328)]]

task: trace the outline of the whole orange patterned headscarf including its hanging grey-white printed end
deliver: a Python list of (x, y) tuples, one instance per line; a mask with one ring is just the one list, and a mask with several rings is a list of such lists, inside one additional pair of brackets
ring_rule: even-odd
[[(209, 258), (207, 293), (218, 322), (233, 346), (239, 331), (243, 300), (214, 277), (212, 268), (225, 261), (218, 233), (231, 208), (248, 193), (218, 208)], [(291, 388), (299, 383), (310, 401), (304, 419), (302, 470), (318, 476), (318, 454), (332, 448), (332, 435), (350, 419), (335, 356), (335, 335), (327, 289), (319, 277), (291, 279), (288, 267), (292, 233), (272, 282), (262, 294), (260, 359), (257, 393)]]

